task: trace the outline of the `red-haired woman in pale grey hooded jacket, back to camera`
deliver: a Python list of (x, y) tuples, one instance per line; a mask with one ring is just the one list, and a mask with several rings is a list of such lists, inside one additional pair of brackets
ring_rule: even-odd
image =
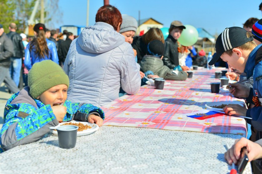
[(67, 98), (100, 107), (118, 98), (120, 86), (136, 94), (141, 78), (131, 45), (118, 33), (120, 11), (111, 5), (100, 7), (95, 22), (72, 41), (64, 70), (70, 79)]

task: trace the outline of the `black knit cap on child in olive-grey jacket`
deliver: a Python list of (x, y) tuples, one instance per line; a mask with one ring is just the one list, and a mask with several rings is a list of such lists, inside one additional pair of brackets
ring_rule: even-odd
[(161, 58), (164, 54), (164, 44), (160, 40), (153, 40), (149, 42), (147, 54)]

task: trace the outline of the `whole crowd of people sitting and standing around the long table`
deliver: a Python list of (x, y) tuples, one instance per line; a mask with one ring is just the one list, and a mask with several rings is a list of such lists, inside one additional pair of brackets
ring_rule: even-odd
[[(67, 31), (58, 36), (56, 30), (38, 23), (29, 43), (25, 34), (16, 33), (14, 23), (8, 34), (0, 24), (0, 84), (4, 82), (15, 93), (4, 111), (2, 150), (38, 140), (59, 121), (79, 119), (101, 126), (104, 112), (99, 107), (121, 95), (136, 94), (148, 78), (186, 80), (192, 65), (207, 66), (204, 50), (198, 52), (193, 45), (177, 41), (186, 29), (181, 21), (171, 23), (165, 40), (158, 28), (135, 36), (137, 21), (111, 5), (99, 8), (95, 22), (76, 39)], [(226, 28), (218, 36), (216, 54), (209, 62), (228, 63), (232, 71), (226, 75), (239, 81), (230, 84), (230, 93), (249, 103), (248, 109), (228, 105), (226, 114), (252, 117), (248, 120), (252, 141), (240, 139), (225, 153), (230, 164), (237, 163), (244, 146), (250, 160), (262, 157), (261, 43), (262, 19), (250, 18), (243, 28)], [(18, 92), (21, 68), (25, 88)], [(260, 163), (253, 168), (261, 171)]]

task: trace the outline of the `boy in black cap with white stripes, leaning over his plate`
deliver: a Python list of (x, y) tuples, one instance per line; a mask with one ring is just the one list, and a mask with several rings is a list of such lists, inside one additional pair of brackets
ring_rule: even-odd
[[(249, 103), (255, 103), (255, 107), (246, 109), (238, 104), (229, 104), (224, 111), (228, 115), (251, 117), (252, 120), (247, 119), (246, 121), (257, 130), (256, 140), (259, 140), (262, 138), (262, 44), (257, 46), (253, 41), (253, 36), (240, 27), (226, 28), (216, 40), (216, 56), (212, 58), (209, 65), (223, 60), (228, 63), (229, 67), (245, 72), (247, 79), (253, 75), (253, 89), (239, 83), (230, 84), (233, 87), (230, 93), (235, 97), (246, 98)], [(232, 163), (232, 159), (235, 158), (230, 155), (226, 159)]]

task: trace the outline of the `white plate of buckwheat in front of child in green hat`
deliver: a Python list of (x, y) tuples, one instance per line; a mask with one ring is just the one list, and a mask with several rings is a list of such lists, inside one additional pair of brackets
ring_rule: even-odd
[[(84, 122), (84, 121), (75, 121), (75, 120), (70, 121), (70, 122), (59, 123), (55, 128), (58, 128), (59, 126), (63, 126), (63, 125), (78, 126), (77, 136), (89, 135), (99, 129), (99, 126), (95, 123), (89, 123), (89, 122)], [(52, 133), (54, 135), (57, 135), (56, 130), (52, 130)]]

